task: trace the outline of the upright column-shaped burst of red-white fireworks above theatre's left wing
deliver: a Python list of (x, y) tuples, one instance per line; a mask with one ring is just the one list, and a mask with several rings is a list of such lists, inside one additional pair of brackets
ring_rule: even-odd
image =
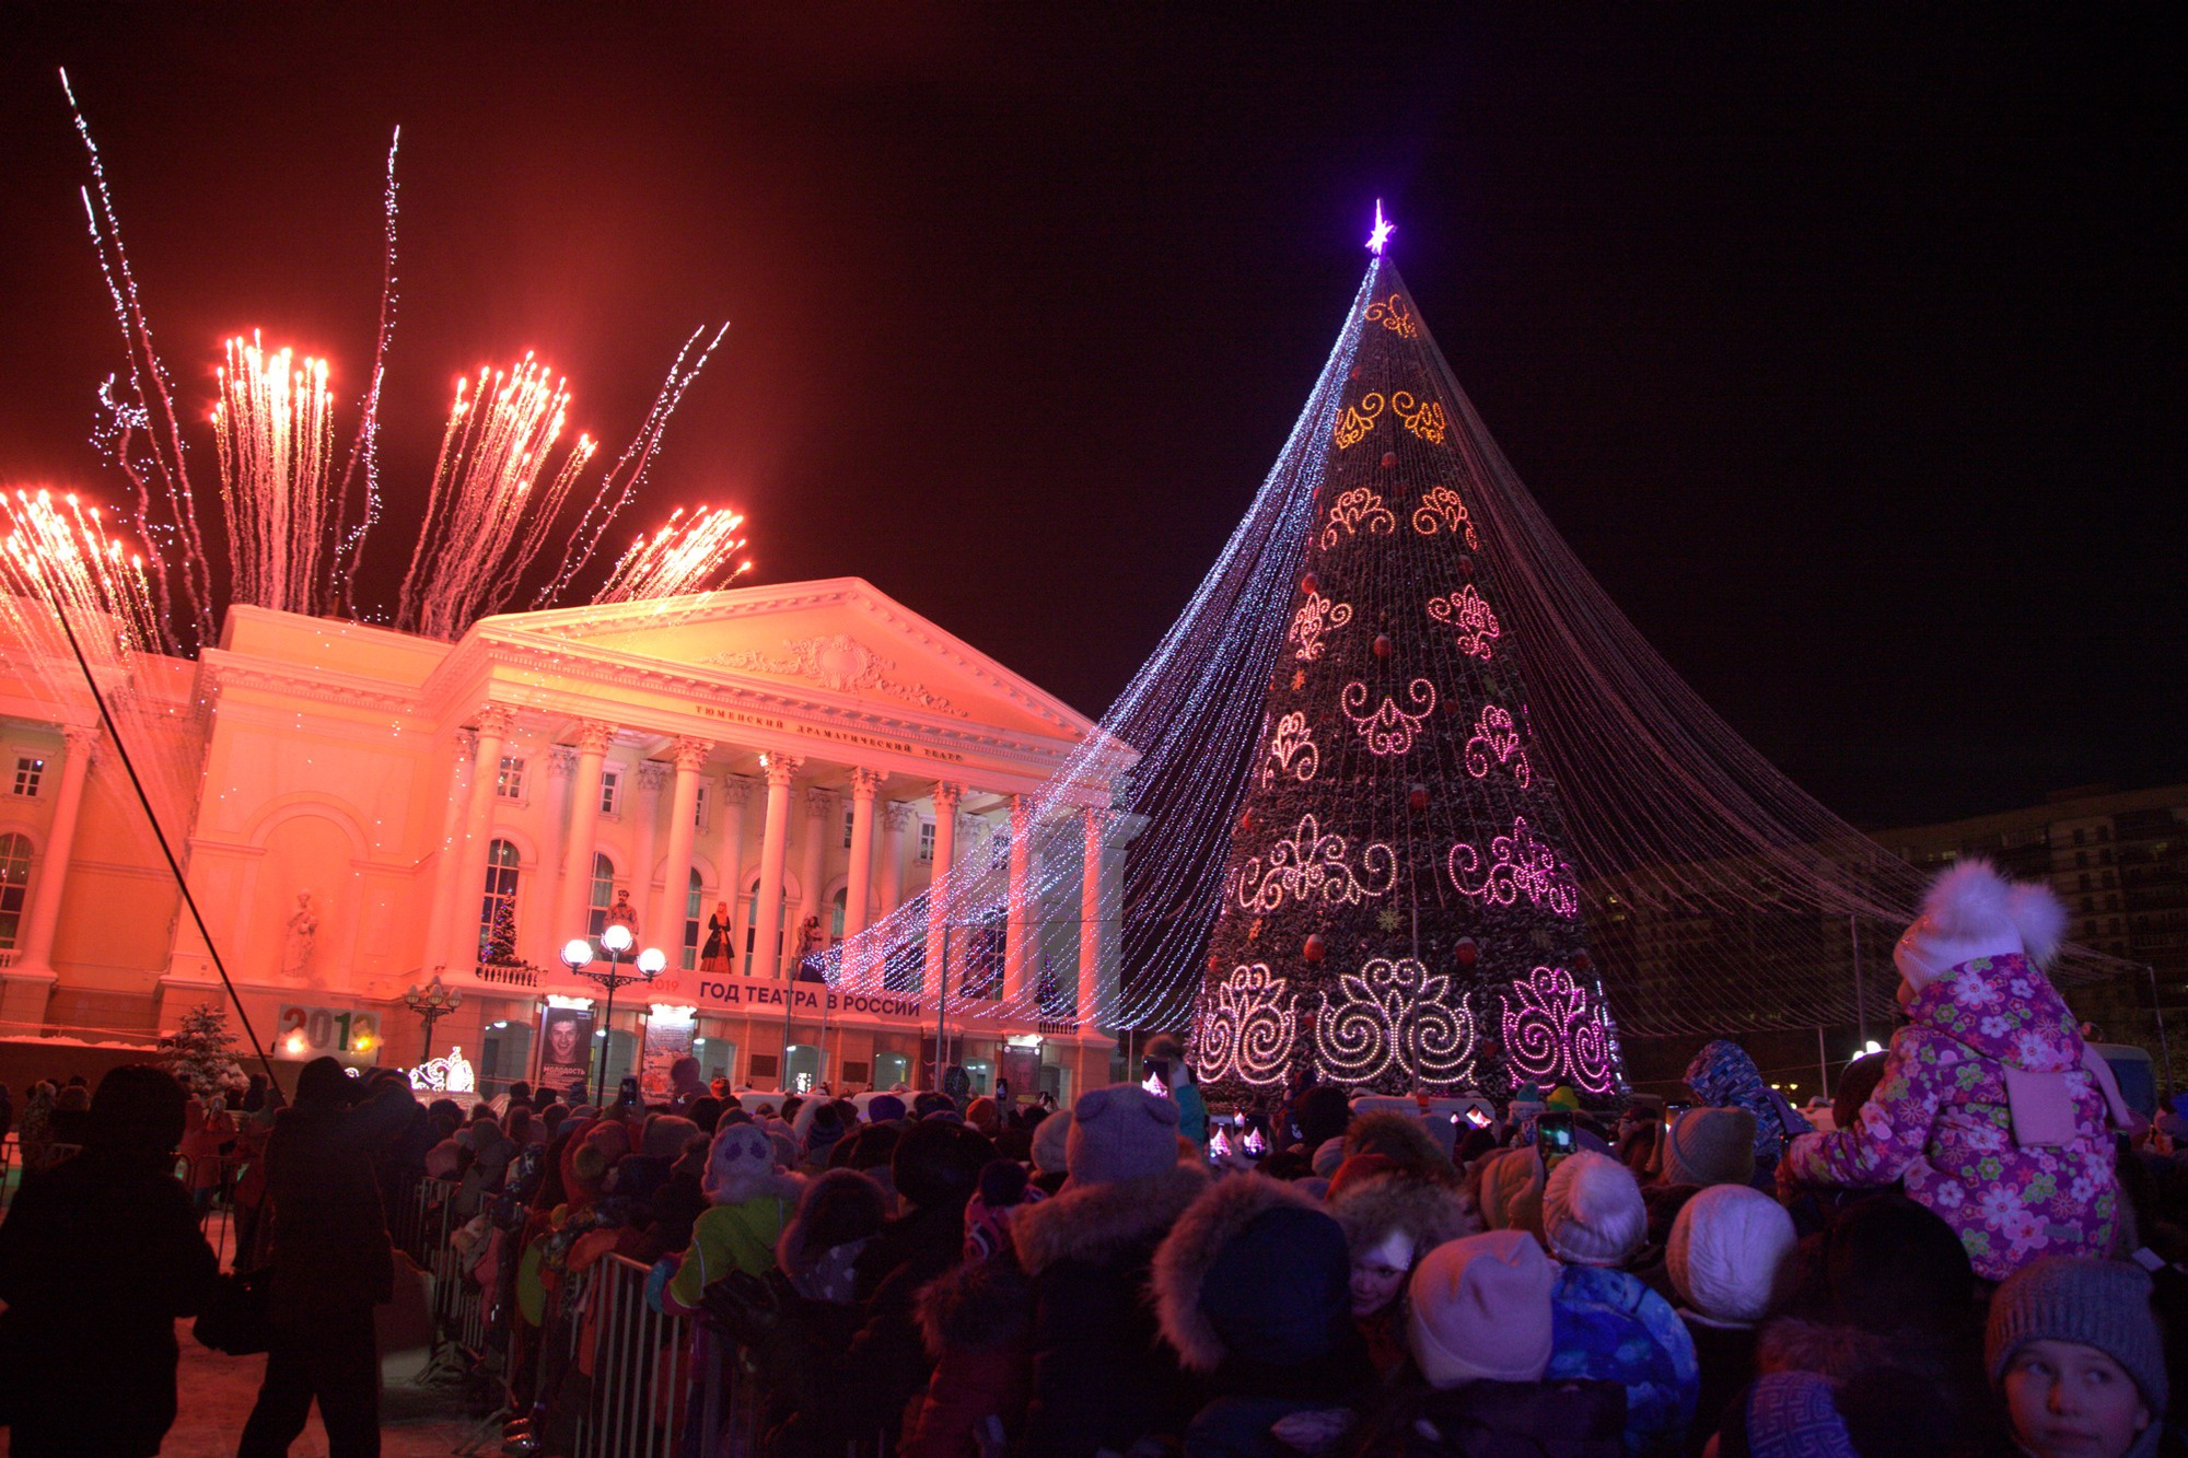
[(234, 595), (284, 613), (330, 611), (333, 593), (319, 582), (319, 552), (337, 536), (326, 361), (306, 357), (298, 368), (291, 350), (267, 355), (252, 335), (228, 342), (217, 379), (212, 440), (221, 451)]

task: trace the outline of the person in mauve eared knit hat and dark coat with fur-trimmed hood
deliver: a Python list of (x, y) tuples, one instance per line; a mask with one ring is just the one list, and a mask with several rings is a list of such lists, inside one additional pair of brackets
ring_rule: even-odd
[(1092, 1458), (1175, 1434), (1190, 1388), (1144, 1300), (1155, 1246), (1208, 1184), (1177, 1160), (1177, 1106), (1136, 1084), (1072, 1103), (1070, 1178), (1011, 1222), (1033, 1281), (1024, 1458)]

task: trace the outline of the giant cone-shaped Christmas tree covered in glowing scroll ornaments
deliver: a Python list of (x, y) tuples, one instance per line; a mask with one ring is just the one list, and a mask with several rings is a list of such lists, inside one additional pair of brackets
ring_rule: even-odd
[(1376, 258), (1195, 1020), (1212, 1097), (1617, 1084), (1451, 368)]

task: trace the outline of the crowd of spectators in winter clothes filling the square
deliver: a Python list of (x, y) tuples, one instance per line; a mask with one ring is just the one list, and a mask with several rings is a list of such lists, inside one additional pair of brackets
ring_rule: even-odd
[[(608, 1254), (744, 1375), (746, 1436), (687, 1423), (694, 1458), (2188, 1451), (2188, 1123), (2118, 1099), (2041, 972), (2059, 930), (1989, 867), (1943, 878), (1897, 948), (1904, 1022), (1825, 1130), (1729, 1040), (1691, 1106), (1523, 1088), (1483, 1127), (1315, 1081), (1210, 1114), (1173, 1040), (1068, 1110), (737, 1097), (687, 1060), (652, 1106), (516, 1086), (466, 1114), (319, 1060), (225, 1134), (263, 1152), (238, 1451), (287, 1451), (313, 1401), (333, 1454), (376, 1451), (418, 1180), (505, 1311), (534, 1451), (582, 1397), (551, 1335)], [(18, 1454), (158, 1451), (175, 1320), (234, 1300), (173, 1176), (223, 1136), (188, 1103), (109, 1073), (0, 1224)]]

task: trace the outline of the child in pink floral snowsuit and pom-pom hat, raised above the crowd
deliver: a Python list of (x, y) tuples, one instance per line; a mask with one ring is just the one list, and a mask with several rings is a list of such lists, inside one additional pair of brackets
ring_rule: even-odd
[(1965, 860), (1930, 887), (1893, 950), (1908, 1022), (1851, 1127), (1785, 1149), (1779, 1191), (1877, 1187), (1950, 1224), (1976, 1274), (2004, 1281), (2048, 1254), (2111, 1252), (2120, 1222), (2111, 1071), (2044, 976), (2065, 909)]

